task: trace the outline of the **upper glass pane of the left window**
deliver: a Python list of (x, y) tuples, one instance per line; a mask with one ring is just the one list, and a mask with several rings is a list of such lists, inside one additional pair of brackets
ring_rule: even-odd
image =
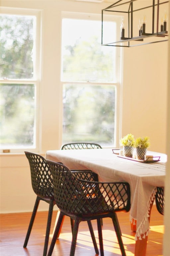
[(1, 14), (1, 78), (33, 78), (35, 17)]

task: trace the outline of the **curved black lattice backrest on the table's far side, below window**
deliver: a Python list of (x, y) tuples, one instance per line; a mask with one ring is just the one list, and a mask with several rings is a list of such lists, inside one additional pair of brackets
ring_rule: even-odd
[(96, 149), (102, 148), (97, 143), (90, 143), (90, 142), (73, 142), (64, 144), (61, 149)]

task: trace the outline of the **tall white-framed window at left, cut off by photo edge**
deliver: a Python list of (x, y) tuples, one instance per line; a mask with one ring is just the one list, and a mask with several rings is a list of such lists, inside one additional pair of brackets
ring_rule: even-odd
[(2, 9), (0, 18), (1, 150), (37, 150), (39, 14)]

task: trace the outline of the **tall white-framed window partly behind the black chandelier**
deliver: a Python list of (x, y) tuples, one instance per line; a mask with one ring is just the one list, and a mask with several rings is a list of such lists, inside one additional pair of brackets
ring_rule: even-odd
[[(105, 21), (108, 35), (120, 22), (119, 17)], [(120, 60), (120, 47), (101, 46), (100, 15), (82, 14), (80, 18), (64, 14), (62, 143), (86, 141), (117, 146)]]

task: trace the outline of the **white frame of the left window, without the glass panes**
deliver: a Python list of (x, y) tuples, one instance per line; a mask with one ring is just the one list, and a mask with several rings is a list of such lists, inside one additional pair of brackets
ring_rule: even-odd
[(2, 147), (0, 153), (23, 153), (24, 151), (34, 150), (39, 152), (40, 150), (40, 79), (41, 79), (41, 37), (42, 37), (42, 11), (34, 9), (24, 9), (24, 8), (8, 8), (1, 7), (1, 14), (9, 15), (21, 15), (21, 16), (35, 16), (35, 61), (34, 61), (34, 77), (32, 79), (8, 79), (0, 78), (1, 84), (34, 84), (35, 85), (35, 146), (30, 147), (16, 147), (16, 148), (6, 148)]

